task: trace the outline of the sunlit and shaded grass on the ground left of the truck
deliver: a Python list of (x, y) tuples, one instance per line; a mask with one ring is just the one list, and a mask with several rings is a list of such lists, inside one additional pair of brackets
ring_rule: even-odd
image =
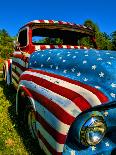
[(43, 155), (38, 144), (20, 126), (15, 114), (13, 87), (0, 81), (0, 155)]

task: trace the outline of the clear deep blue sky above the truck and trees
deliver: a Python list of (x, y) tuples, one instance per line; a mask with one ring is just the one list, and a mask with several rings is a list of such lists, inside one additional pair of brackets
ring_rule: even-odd
[(35, 19), (52, 19), (83, 24), (91, 19), (101, 32), (116, 30), (116, 0), (1, 0), (0, 29), (11, 36)]

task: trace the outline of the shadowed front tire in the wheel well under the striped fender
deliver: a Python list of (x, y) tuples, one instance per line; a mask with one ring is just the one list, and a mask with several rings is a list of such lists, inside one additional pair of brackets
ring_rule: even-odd
[(20, 102), (20, 105), (23, 105), (18, 109), (18, 119), (20, 121), (20, 125), (34, 140), (37, 140), (36, 112), (34, 111), (28, 97), (20, 98)]

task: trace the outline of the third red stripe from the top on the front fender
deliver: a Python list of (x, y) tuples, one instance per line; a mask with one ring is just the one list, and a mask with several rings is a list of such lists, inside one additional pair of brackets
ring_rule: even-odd
[(28, 90), (33, 95), (34, 100), (38, 101), (42, 106), (44, 106), (48, 111), (50, 111), (55, 117), (57, 117), (57, 119), (59, 119), (63, 123), (70, 125), (75, 120), (73, 116), (67, 113), (64, 109), (62, 109), (59, 105), (57, 105), (52, 100), (39, 94), (39, 92), (36, 93), (33, 90), (30, 90), (30, 89)]

